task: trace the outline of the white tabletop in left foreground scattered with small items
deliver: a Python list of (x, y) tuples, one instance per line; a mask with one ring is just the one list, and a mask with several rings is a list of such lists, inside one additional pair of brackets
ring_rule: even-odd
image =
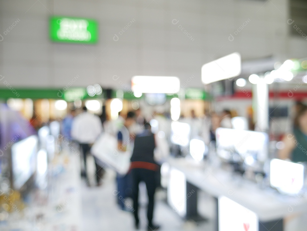
[(55, 155), (48, 172), (47, 188), (33, 189), (26, 208), (9, 214), (0, 230), (81, 230), (80, 157), (67, 152)]

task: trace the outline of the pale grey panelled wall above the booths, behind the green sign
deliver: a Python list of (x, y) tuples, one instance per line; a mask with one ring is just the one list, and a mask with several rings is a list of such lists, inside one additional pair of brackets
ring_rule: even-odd
[[(287, 4), (287, 0), (0, 0), (4, 37), (0, 74), (16, 87), (61, 87), (77, 74), (74, 86), (99, 83), (121, 88), (112, 80), (116, 74), (127, 85), (133, 75), (172, 75), (181, 82), (194, 75), (188, 87), (200, 87), (201, 66), (235, 51), (243, 60), (305, 57), (307, 41), (288, 36)], [(51, 15), (97, 19), (99, 42), (84, 46), (50, 42)], [(17, 19), (20, 22), (4, 35)], [(173, 19), (179, 22), (173, 25)], [(229, 35), (247, 20), (230, 42)], [(178, 26), (191, 34), (192, 41)]]

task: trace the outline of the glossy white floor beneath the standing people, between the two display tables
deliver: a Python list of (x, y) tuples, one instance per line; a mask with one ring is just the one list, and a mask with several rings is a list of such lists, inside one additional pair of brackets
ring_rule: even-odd
[[(88, 165), (93, 163), (89, 162)], [(83, 229), (84, 231), (102, 231), (102, 230), (134, 230), (134, 220), (132, 213), (120, 210), (116, 204), (116, 196), (112, 194), (116, 189), (115, 173), (107, 170), (103, 178), (103, 185), (86, 186), (83, 180), (82, 187), (82, 207), (83, 207)], [(90, 185), (94, 185), (93, 178), (90, 179)], [(141, 226), (140, 230), (146, 229), (146, 189), (141, 186), (140, 209)], [(213, 230), (214, 220), (209, 219), (206, 222), (196, 224), (192, 221), (184, 221), (181, 217), (172, 211), (166, 204), (166, 193), (158, 190), (156, 193), (156, 207), (154, 211), (154, 222), (161, 225), (160, 230), (180, 231), (180, 230)], [(132, 201), (128, 200), (132, 204)], [(214, 203), (212, 199), (205, 194), (200, 194), (200, 213), (206, 217), (214, 218)]]

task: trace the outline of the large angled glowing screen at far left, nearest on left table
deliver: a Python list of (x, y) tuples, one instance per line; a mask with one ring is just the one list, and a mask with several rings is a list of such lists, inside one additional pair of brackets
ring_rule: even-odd
[(30, 136), (12, 145), (14, 189), (20, 189), (36, 171), (37, 136)]

